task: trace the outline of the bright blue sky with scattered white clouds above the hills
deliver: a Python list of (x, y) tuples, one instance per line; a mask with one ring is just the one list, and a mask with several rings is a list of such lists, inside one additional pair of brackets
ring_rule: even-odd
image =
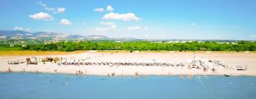
[(0, 30), (256, 40), (255, 0), (1, 0)]

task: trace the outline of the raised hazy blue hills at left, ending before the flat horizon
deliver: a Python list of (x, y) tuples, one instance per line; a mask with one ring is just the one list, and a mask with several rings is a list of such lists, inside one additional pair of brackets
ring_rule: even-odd
[(110, 39), (104, 35), (68, 35), (63, 33), (53, 32), (36, 32), (31, 33), (23, 30), (0, 30), (0, 40), (9, 39), (35, 39), (35, 40), (87, 40), (97, 39), (104, 40)]

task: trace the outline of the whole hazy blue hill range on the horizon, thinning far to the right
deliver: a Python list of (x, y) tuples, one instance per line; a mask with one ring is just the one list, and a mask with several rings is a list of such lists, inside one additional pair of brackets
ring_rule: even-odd
[(157, 39), (138, 39), (135, 37), (114, 37), (105, 35), (68, 35), (53, 32), (31, 33), (23, 30), (0, 30), (0, 40), (117, 40), (117, 41), (150, 41), (150, 42), (235, 42), (237, 40), (157, 40)]

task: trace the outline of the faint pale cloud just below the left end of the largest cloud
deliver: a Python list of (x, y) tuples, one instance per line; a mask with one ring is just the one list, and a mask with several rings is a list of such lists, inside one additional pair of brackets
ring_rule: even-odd
[(100, 22), (100, 25), (102, 25), (103, 27), (98, 27), (98, 28), (95, 28), (94, 30), (97, 32), (107, 32), (117, 28), (116, 23), (113, 23), (113, 22)]

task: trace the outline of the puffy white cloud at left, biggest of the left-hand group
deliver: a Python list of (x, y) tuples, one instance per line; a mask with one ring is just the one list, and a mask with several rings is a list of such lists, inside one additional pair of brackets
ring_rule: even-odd
[(33, 15), (29, 15), (30, 18), (33, 18), (35, 20), (45, 20), (45, 21), (51, 21), (53, 20), (53, 16), (50, 16), (48, 13), (35, 13)]

